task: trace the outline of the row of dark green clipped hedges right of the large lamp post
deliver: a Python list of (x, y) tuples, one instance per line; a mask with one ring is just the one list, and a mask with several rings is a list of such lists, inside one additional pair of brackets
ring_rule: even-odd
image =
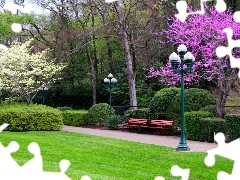
[(195, 141), (214, 142), (214, 132), (224, 133), (228, 142), (240, 137), (239, 114), (226, 114), (219, 119), (207, 111), (186, 112), (185, 124), (187, 138)]

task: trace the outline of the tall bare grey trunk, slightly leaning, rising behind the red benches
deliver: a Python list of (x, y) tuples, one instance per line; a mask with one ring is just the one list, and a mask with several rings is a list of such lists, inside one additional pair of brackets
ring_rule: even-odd
[(127, 64), (127, 79), (128, 79), (128, 85), (129, 85), (130, 106), (137, 106), (137, 95), (136, 95), (136, 87), (135, 87), (136, 75), (133, 70), (133, 60), (131, 57), (131, 52), (130, 52), (129, 43), (127, 39), (127, 31), (123, 24), (123, 16), (120, 10), (119, 2), (114, 2), (114, 7), (116, 9), (117, 16), (118, 16), (118, 23), (121, 31), (122, 45), (123, 45), (124, 55), (125, 55), (126, 64)]

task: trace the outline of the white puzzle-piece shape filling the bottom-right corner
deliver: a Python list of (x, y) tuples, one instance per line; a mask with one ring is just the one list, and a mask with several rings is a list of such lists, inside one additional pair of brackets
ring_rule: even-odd
[(240, 177), (240, 139), (236, 139), (230, 143), (225, 143), (225, 136), (223, 133), (217, 133), (215, 135), (215, 141), (218, 143), (218, 147), (208, 151), (208, 155), (204, 159), (204, 163), (207, 166), (213, 166), (215, 164), (215, 156), (219, 155), (224, 158), (234, 161), (232, 174), (228, 174), (224, 171), (220, 171), (217, 175), (218, 180), (238, 180)]

